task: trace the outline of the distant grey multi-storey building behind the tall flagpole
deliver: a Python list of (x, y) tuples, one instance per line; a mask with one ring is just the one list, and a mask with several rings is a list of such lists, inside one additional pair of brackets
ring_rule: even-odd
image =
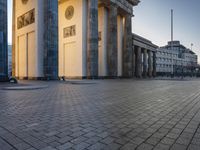
[(166, 46), (157, 49), (156, 70), (158, 75), (191, 75), (197, 66), (197, 55), (189, 48), (180, 44), (180, 41), (168, 42)]

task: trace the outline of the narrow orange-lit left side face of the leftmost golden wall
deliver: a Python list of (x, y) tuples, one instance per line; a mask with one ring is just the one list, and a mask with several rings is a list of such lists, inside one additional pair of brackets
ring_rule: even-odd
[(16, 76), (16, 59), (15, 59), (15, 7), (16, 0), (13, 0), (13, 16), (12, 16), (12, 76)]

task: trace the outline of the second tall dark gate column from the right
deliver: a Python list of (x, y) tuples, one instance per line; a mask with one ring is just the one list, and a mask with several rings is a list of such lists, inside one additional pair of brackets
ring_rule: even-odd
[(117, 6), (110, 4), (108, 14), (108, 76), (117, 77)]

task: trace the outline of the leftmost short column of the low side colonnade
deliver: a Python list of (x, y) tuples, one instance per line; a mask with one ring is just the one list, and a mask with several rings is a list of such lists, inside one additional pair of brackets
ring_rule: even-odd
[(141, 47), (137, 48), (136, 51), (136, 77), (142, 77), (142, 55), (141, 55)]

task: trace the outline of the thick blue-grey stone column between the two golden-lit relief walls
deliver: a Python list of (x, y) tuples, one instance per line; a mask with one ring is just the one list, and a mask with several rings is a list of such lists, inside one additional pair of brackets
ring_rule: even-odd
[(44, 0), (44, 76), (58, 78), (58, 0)]

